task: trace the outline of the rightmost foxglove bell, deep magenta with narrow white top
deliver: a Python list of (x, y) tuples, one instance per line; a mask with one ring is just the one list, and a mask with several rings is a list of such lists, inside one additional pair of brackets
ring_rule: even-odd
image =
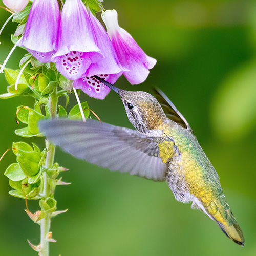
[(148, 70), (155, 66), (156, 59), (147, 56), (133, 37), (119, 27), (116, 10), (103, 12), (102, 19), (121, 65), (129, 70), (124, 71), (124, 76), (132, 84), (145, 81), (150, 73)]

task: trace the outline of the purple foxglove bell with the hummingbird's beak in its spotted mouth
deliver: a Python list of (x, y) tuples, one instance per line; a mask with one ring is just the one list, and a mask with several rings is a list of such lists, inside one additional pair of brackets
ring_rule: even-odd
[(76, 89), (88, 94), (90, 97), (104, 99), (110, 92), (110, 88), (92, 77), (98, 75), (110, 83), (114, 83), (125, 71), (120, 65), (111, 40), (100, 22), (90, 13), (94, 31), (95, 44), (100, 49), (104, 58), (92, 63), (82, 77), (75, 80), (73, 85)]

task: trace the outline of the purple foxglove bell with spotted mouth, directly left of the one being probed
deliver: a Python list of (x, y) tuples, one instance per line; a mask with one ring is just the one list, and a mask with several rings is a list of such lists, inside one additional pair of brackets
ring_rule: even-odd
[(103, 55), (95, 44), (88, 10), (81, 0), (66, 0), (61, 12), (58, 50), (52, 57), (56, 68), (68, 79), (81, 77)]

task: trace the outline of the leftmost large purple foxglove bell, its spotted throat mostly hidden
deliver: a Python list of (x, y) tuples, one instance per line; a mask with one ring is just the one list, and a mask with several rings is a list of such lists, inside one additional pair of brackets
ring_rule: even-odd
[(59, 20), (57, 0), (34, 0), (19, 45), (26, 47), (40, 62), (50, 62), (57, 48)]

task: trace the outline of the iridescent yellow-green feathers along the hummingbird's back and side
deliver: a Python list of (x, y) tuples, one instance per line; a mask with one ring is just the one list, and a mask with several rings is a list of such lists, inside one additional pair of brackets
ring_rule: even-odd
[[(165, 130), (165, 134), (173, 141), (159, 144), (162, 161), (177, 161), (175, 172), (178, 179), (185, 183), (187, 192), (195, 196), (214, 219), (228, 225), (226, 203), (222, 205), (219, 200), (223, 191), (218, 175), (195, 136), (176, 129)], [(178, 154), (180, 157), (177, 157)]]

